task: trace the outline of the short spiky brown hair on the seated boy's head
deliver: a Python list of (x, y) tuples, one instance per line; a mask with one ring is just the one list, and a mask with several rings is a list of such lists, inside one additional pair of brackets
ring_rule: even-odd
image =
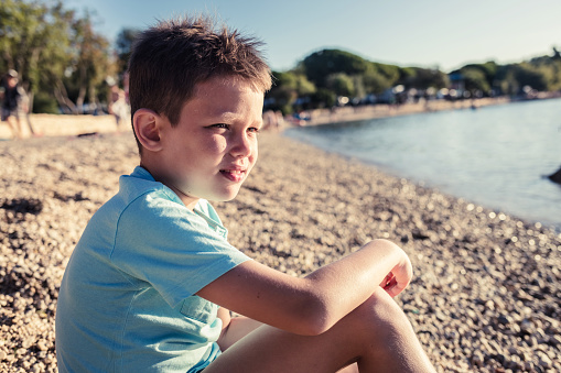
[(137, 37), (129, 59), (132, 116), (140, 108), (164, 114), (172, 125), (195, 85), (220, 75), (239, 77), (256, 89), (271, 88), (271, 70), (258, 47), (226, 25), (204, 15), (161, 21)]

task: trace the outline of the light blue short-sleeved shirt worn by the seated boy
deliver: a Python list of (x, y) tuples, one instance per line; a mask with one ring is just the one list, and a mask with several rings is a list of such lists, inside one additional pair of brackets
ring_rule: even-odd
[(192, 372), (219, 353), (218, 307), (196, 295), (249, 260), (214, 208), (194, 211), (142, 167), (91, 218), (56, 309), (61, 372)]

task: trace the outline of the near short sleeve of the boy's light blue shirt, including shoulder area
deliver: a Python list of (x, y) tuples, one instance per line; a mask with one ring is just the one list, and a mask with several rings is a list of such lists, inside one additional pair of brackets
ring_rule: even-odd
[(151, 195), (121, 213), (111, 253), (115, 265), (150, 283), (172, 307), (247, 260), (205, 219)]

